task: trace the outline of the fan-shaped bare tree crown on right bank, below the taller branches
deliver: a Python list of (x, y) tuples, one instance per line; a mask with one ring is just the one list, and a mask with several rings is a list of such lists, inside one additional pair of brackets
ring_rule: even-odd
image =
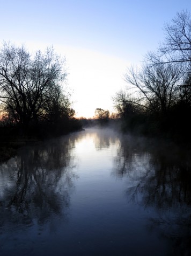
[(126, 74), (126, 81), (137, 88), (139, 94), (135, 103), (155, 113), (165, 114), (177, 102), (179, 87), (177, 82), (182, 78), (180, 65), (143, 65), (135, 71), (133, 67)]

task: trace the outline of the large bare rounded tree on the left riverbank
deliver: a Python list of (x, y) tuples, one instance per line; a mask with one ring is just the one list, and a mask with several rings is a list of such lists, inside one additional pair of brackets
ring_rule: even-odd
[[(0, 100), (14, 123), (27, 129), (52, 107), (67, 73), (53, 47), (34, 56), (24, 46), (4, 43), (0, 51)], [(48, 105), (49, 104), (49, 105)], [(50, 109), (49, 109), (50, 111)]]

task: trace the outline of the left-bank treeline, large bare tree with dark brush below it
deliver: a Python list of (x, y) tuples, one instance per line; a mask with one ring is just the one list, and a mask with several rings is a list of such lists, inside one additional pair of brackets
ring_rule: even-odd
[(80, 128), (64, 84), (65, 60), (53, 47), (30, 54), (4, 43), (0, 50), (1, 140), (47, 137)]

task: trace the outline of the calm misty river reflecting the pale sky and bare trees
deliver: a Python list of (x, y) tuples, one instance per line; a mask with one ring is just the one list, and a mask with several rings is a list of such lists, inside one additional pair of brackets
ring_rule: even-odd
[(0, 255), (191, 255), (191, 161), (87, 129), (0, 165)]

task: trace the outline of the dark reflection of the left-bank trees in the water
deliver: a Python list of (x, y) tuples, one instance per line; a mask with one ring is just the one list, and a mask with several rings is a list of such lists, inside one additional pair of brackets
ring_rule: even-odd
[[(21, 149), (0, 167), (0, 227), (43, 224), (64, 215), (76, 176), (72, 172), (74, 140), (68, 138)], [(11, 182), (10, 182), (11, 180)]]

